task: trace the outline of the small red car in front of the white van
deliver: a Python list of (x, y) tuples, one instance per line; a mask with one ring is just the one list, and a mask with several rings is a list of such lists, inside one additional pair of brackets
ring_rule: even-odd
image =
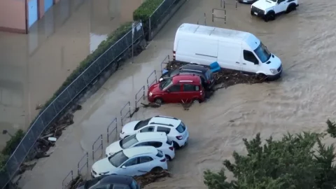
[(148, 101), (156, 104), (203, 102), (204, 96), (202, 80), (195, 74), (165, 78), (148, 89)]

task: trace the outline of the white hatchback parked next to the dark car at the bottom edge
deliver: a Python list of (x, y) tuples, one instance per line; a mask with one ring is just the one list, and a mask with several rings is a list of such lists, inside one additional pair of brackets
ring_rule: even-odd
[(165, 153), (153, 146), (127, 148), (98, 160), (92, 165), (91, 176), (109, 174), (139, 176), (151, 171), (168, 169)]

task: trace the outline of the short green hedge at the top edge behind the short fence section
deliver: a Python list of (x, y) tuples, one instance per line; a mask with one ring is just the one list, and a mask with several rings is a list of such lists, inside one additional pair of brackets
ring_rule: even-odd
[(154, 13), (154, 10), (160, 6), (164, 0), (146, 0), (133, 12), (133, 20), (141, 20), (144, 31), (148, 32), (148, 18)]

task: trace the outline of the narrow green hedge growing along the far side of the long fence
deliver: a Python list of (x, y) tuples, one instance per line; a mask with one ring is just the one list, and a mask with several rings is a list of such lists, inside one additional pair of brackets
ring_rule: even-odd
[[(70, 83), (73, 82), (73, 80), (75, 80), (80, 75), (80, 73), (83, 73), (83, 71), (87, 69), (88, 66), (90, 66), (100, 55), (102, 55), (106, 50), (108, 50), (111, 47), (111, 45), (116, 43), (131, 29), (132, 29), (132, 22), (127, 22), (124, 25), (121, 25), (120, 27), (118, 27), (118, 29), (113, 31), (106, 38), (105, 41), (102, 41), (102, 43), (98, 45), (97, 50), (94, 50), (94, 52), (92, 52), (90, 55), (87, 55), (87, 57), (82, 62), (80, 62), (77, 68), (72, 71), (70, 76), (66, 78), (61, 87), (59, 87), (59, 89), (52, 95), (52, 98), (50, 98), (47, 102), (45, 102), (45, 104), (43, 105), (43, 109), (41, 109), (40, 113), (38, 113), (38, 116), (66, 87), (70, 85)], [(38, 116), (36, 116), (36, 118), (38, 118)], [(36, 118), (33, 120), (32, 123), (35, 122)], [(15, 148), (18, 147), (18, 144), (20, 144), (20, 141), (23, 137), (25, 137), (25, 133), (22, 130), (18, 130), (18, 132), (15, 133), (12, 139), (7, 141), (5, 148), (3, 148), (3, 151), (1, 152), (2, 154), (0, 154), (0, 169), (3, 167), (4, 163), (6, 163), (6, 160), (11, 155), (11, 153), (15, 151)]]

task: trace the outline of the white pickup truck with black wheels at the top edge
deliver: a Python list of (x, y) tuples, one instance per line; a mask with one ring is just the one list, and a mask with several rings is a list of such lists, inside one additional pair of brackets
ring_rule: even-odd
[(259, 0), (251, 5), (251, 15), (261, 17), (268, 22), (275, 20), (280, 13), (290, 13), (299, 6), (297, 0)]

